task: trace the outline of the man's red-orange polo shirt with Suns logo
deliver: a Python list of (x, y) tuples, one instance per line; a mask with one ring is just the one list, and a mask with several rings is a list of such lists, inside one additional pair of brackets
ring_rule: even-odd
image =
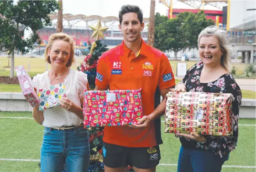
[[(154, 94), (159, 89), (175, 86), (171, 65), (167, 56), (148, 46), (144, 40), (136, 56), (124, 41), (121, 45), (106, 51), (99, 58), (95, 81), (99, 88), (110, 90), (141, 90), (142, 113), (154, 111)], [(105, 126), (104, 142), (125, 147), (156, 146), (154, 122), (145, 129), (129, 126)]]

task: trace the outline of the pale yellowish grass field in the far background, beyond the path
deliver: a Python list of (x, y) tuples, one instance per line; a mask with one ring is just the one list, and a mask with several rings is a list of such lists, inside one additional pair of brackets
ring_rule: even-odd
[[(84, 61), (84, 57), (76, 57), (76, 63), (73, 64), (71, 67), (72, 69), (76, 69), (77, 66), (80, 65), (80, 62)], [(0, 56), (0, 76), (10, 76), (10, 68), (6, 68), (5, 66), (8, 66), (8, 58), (6, 56)], [(35, 76), (37, 73), (43, 73), (46, 71), (46, 62), (44, 61), (44, 58), (42, 57), (15, 57), (14, 58), (14, 66), (24, 66), (26, 70), (28, 70), (28, 62), (30, 62), (30, 72), (29, 75)], [(178, 62), (186, 62), (187, 63), (187, 69), (189, 69), (191, 66), (193, 66), (196, 61), (170, 61), (170, 64), (172, 66), (172, 71), (174, 76), (176, 76), (177, 72), (177, 63)], [(242, 75), (245, 69), (246, 64), (242, 63), (234, 63), (234, 66), (237, 67), (237, 75)], [(48, 69), (51, 69), (51, 65), (48, 64)], [(16, 76), (16, 72), (14, 72)]]

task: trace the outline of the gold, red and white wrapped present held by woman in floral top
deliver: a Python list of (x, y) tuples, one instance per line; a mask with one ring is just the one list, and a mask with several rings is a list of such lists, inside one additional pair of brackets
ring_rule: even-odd
[(165, 132), (229, 136), (232, 131), (229, 93), (169, 92)]

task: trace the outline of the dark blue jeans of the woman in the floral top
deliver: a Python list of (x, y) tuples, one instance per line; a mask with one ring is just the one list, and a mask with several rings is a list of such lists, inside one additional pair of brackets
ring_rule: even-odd
[(220, 158), (211, 151), (186, 149), (181, 146), (177, 172), (220, 172), (229, 154)]

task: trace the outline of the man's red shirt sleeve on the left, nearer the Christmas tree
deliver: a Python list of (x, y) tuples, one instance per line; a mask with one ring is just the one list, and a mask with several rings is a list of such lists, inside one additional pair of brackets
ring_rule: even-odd
[(104, 62), (105, 58), (101, 56), (99, 58), (98, 66), (97, 66), (97, 74), (95, 79), (95, 85), (99, 88), (107, 88), (109, 85), (108, 79), (107, 79), (107, 72), (105, 70), (106, 63)]

